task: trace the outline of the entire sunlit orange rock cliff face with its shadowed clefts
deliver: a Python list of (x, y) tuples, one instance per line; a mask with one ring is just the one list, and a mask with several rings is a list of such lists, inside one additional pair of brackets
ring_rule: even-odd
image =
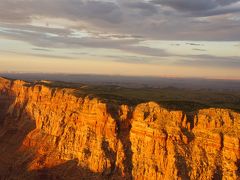
[(0, 179), (238, 179), (240, 114), (192, 117), (0, 79)]

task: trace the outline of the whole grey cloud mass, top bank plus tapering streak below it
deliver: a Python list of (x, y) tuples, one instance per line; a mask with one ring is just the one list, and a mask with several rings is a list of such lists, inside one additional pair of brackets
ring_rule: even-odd
[(240, 40), (239, 22), (230, 18), (239, 8), (237, 0), (0, 0), (0, 36), (28, 42), (34, 51), (113, 49), (158, 59), (174, 55), (139, 43)]

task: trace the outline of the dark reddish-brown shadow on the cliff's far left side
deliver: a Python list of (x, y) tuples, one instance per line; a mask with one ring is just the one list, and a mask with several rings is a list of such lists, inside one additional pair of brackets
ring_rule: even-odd
[[(26, 102), (14, 104), (15, 99), (16, 96), (11, 91), (3, 90), (0, 92), (1, 180), (12, 179), (12, 174), (21, 171), (24, 164), (27, 164), (33, 156), (31, 149), (26, 150), (24, 153), (20, 149), (27, 134), (35, 129), (35, 122), (25, 111)], [(9, 108), (12, 110), (9, 111)]]

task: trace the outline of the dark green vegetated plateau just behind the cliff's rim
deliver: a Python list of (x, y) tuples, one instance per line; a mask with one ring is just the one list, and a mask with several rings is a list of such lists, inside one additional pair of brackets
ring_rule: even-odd
[(168, 88), (126, 88), (113, 85), (85, 85), (65, 82), (34, 82), (52, 88), (72, 88), (77, 97), (98, 97), (104, 102), (115, 104), (136, 104), (148, 101), (158, 102), (171, 110), (191, 112), (202, 108), (229, 108), (240, 111), (240, 92), (230, 90), (190, 90)]

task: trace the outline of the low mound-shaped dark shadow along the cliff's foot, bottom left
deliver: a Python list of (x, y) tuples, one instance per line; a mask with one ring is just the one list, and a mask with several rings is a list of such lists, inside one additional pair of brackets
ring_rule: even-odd
[[(31, 159), (29, 159), (30, 161)], [(20, 169), (19, 169), (20, 168)], [(1, 180), (105, 180), (123, 179), (117, 175), (106, 175), (103, 172), (93, 172), (87, 167), (81, 167), (77, 159), (65, 161), (61, 164), (49, 168), (29, 170), (28, 163), (22, 164), (11, 169), (12, 172), (1, 176)], [(106, 169), (104, 172), (110, 172)]]

